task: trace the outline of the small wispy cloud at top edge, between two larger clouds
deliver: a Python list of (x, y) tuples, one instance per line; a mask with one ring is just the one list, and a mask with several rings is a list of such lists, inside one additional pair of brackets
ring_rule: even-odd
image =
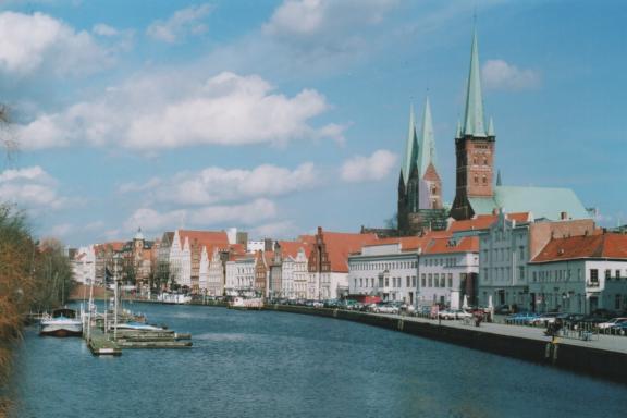
[(202, 34), (207, 25), (202, 20), (211, 12), (210, 4), (193, 5), (174, 12), (167, 21), (156, 21), (146, 29), (148, 36), (174, 44), (185, 36)]

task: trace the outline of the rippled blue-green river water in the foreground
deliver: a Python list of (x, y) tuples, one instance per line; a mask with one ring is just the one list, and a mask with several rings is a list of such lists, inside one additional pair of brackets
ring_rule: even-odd
[[(627, 385), (348, 321), (136, 304), (192, 349), (94, 357), (28, 330), (19, 418), (625, 417)], [(627, 377), (626, 377), (627, 379)]]

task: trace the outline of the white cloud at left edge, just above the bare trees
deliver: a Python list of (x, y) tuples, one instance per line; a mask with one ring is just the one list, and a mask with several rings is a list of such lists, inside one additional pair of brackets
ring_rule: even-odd
[(0, 201), (25, 209), (60, 209), (69, 199), (60, 197), (58, 182), (38, 165), (0, 173)]

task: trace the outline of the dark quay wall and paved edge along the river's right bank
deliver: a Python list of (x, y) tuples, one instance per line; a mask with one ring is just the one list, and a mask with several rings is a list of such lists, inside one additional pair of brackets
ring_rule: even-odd
[(303, 306), (269, 305), (266, 309), (360, 322), (627, 384), (627, 341), (620, 336), (600, 335), (594, 341), (560, 337), (553, 344), (542, 329), (529, 327), (482, 323), (477, 328), (462, 321)]

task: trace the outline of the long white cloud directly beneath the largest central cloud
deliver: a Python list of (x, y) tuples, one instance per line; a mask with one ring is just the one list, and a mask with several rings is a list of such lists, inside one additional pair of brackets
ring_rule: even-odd
[(294, 170), (262, 164), (253, 170), (225, 170), (210, 167), (199, 172), (182, 172), (164, 181), (150, 179), (144, 184), (127, 183), (121, 193), (150, 192), (159, 202), (211, 205), (255, 197), (281, 196), (314, 187), (319, 173), (306, 162)]

